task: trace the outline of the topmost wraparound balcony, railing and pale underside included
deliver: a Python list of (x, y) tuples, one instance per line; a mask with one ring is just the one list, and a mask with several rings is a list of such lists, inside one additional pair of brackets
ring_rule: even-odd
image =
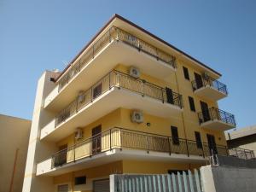
[(74, 93), (87, 89), (91, 82), (119, 63), (138, 67), (143, 73), (164, 80), (176, 70), (174, 56), (112, 26), (63, 74), (55, 89), (46, 96), (44, 108), (58, 112), (63, 102), (73, 100)]

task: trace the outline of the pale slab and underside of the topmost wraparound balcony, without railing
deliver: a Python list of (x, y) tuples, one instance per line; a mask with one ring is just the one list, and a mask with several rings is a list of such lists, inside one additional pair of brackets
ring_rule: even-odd
[(138, 51), (122, 41), (113, 40), (93, 60), (89, 61), (59, 93), (54, 91), (53, 94), (49, 94), (45, 99), (44, 108), (59, 112), (63, 108), (63, 103), (72, 102), (80, 90), (86, 90), (91, 84), (95, 84), (118, 64), (138, 67), (142, 73), (166, 81), (167, 77), (175, 71), (172, 66), (157, 60), (154, 56)]

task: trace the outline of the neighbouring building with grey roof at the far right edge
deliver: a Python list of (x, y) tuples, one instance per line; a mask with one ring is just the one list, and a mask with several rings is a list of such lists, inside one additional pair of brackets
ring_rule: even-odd
[[(253, 150), (256, 154), (256, 125), (241, 128), (236, 131), (225, 132), (229, 148)], [(246, 151), (247, 151), (246, 150)], [(236, 151), (234, 151), (235, 153)]]

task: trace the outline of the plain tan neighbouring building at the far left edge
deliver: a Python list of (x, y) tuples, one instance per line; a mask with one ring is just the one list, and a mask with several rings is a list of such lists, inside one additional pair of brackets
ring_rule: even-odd
[(31, 121), (0, 114), (0, 192), (20, 192)]

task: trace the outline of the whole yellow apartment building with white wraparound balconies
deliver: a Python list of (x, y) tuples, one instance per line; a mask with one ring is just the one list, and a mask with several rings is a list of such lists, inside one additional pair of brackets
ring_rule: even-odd
[(114, 15), (38, 80), (23, 192), (108, 191), (113, 173), (199, 168), (227, 154), (220, 73)]

